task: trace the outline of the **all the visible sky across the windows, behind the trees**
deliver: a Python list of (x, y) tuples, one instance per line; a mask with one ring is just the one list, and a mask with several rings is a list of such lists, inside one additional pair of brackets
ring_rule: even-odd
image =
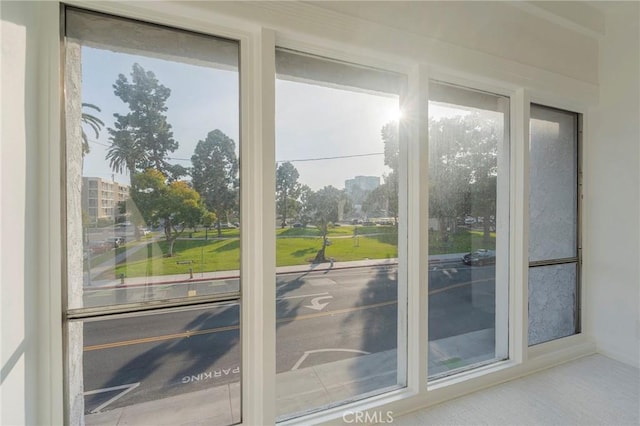
[[(85, 176), (129, 182), (128, 175), (110, 169), (105, 155), (110, 145), (107, 129), (113, 127), (113, 114), (129, 112), (128, 106), (113, 93), (113, 83), (119, 74), (130, 81), (136, 62), (153, 71), (160, 84), (171, 89), (166, 115), (179, 148), (170, 154), (170, 163), (190, 167), (197, 142), (214, 129), (233, 139), (238, 151), (236, 71), (85, 46), (82, 102), (97, 105), (101, 112), (89, 109), (85, 112), (105, 123), (97, 139), (91, 129), (85, 129), (91, 148), (84, 160)], [(444, 109), (434, 113), (451, 115), (455, 111)], [(300, 173), (300, 183), (314, 190), (326, 185), (344, 188), (345, 180), (355, 176), (382, 177), (390, 169), (384, 165), (381, 129), (399, 115), (399, 99), (395, 96), (277, 80), (276, 160), (291, 161)]]

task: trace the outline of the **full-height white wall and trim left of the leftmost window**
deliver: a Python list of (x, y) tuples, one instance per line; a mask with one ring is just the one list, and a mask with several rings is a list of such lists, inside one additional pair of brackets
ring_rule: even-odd
[(52, 300), (61, 297), (59, 287), (51, 286), (59, 282), (60, 265), (52, 267), (55, 255), (49, 256), (52, 248), (60, 252), (61, 243), (49, 234), (46, 224), (56, 208), (43, 191), (45, 185), (59, 185), (59, 173), (50, 174), (48, 167), (59, 164), (55, 156), (50, 158), (57, 151), (49, 148), (57, 139), (49, 132), (57, 127), (47, 125), (57, 114), (57, 99), (53, 104), (49, 100), (50, 89), (57, 98), (57, 76), (50, 65), (59, 44), (55, 31), (52, 37), (51, 28), (43, 25), (43, 17), (56, 16), (57, 11), (55, 3), (0, 4), (2, 425), (62, 419), (62, 321), (59, 310), (57, 314), (50, 310), (56, 304)]

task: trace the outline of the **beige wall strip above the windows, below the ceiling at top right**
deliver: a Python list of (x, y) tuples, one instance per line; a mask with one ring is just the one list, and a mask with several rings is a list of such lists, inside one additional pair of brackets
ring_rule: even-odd
[[(575, 31), (573, 26), (557, 25), (539, 16), (540, 13), (529, 13), (538, 12), (533, 5), (523, 10), (519, 4), (509, 2), (477, 1), (319, 1), (312, 4), (429, 40), (462, 46), (590, 83), (598, 82), (598, 43), (590, 31)], [(583, 4), (567, 12), (575, 19), (580, 12), (593, 10)], [(585, 23), (584, 15), (581, 17), (583, 25), (591, 24), (590, 21)], [(425, 43), (423, 48), (431, 49), (429, 44)], [(437, 59), (442, 61), (444, 58)]]

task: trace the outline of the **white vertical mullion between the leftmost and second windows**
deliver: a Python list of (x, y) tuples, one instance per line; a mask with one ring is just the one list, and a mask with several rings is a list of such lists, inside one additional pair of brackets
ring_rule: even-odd
[(275, 35), (241, 44), (242, 412), (275, 422)]

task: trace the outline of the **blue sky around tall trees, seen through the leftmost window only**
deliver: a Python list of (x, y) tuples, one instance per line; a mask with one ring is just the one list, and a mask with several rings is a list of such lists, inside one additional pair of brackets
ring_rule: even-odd
[[(129, 108), (113, 93), (113, 84), (119, 74), (131, 81), (131, 69), (136, 62), (146, 71), (152, 71), (160, 84), (171, 89), (166, 115), (179, 148), (170, 154), (170, 163), (191, 166), (196, 144), (215, 129), (232, 138), (238, 149), (236, 72), (83, 47), (82, 102), (98, 106), (101, 112), (90, 109), (85, 112), (96, 115), (105, 123), (98, 139), (90, 129), (85, 129), (91, 148), (84, 160), (85, 176), (111, 179), (114, 173), (105, 159), (110, 146), (107, 129), (113, 127), (114, 113), (124, 115)], [(128, 183), (129, 176), (115, 174), (115, 180)]]

